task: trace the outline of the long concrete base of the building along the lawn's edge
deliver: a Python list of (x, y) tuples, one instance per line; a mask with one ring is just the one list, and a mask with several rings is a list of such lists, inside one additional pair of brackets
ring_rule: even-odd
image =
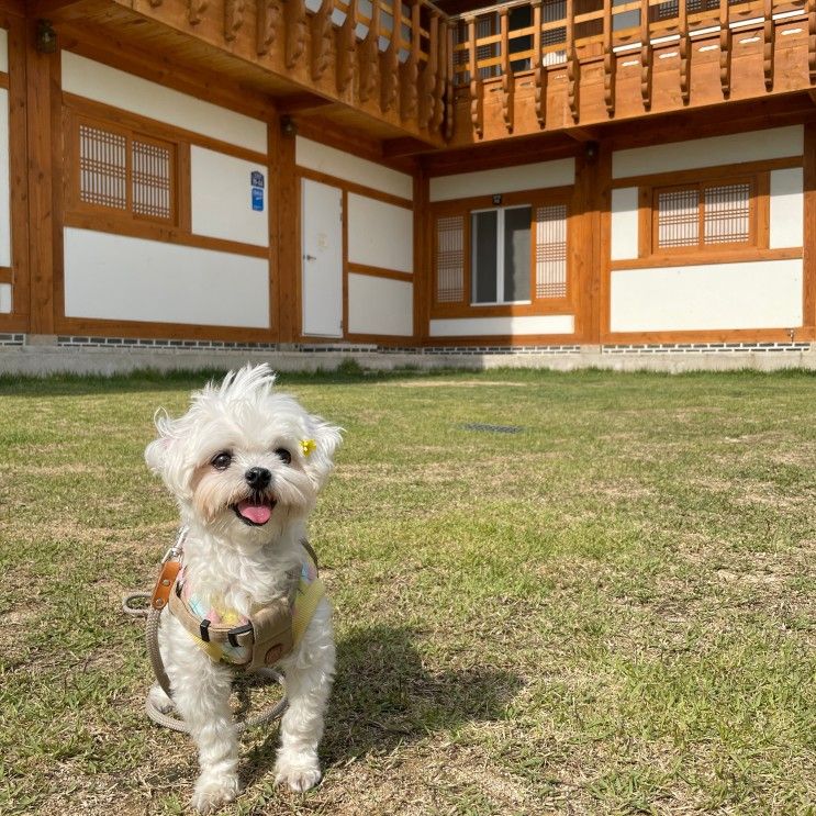
[(756, 369), (816, 369), (816, 345), (751, 350), (729, 347), (697, 350), (691, 347), (661, 349), (658, 347), (585, 346), (568, 350), (473, 351), (446, 353), (444, 349), (390, 351), (376, 347), (326, 346), (306, 349), (201, 349), (142, 348), (133, 346), (69, 347), (54, 343), (22, 343), (0, 346), (0, 373), (47, 376), (52, 373), (118, 375), (144, 369), (158, 371), (237, 368), (246, 362), (269, 362), (278, 371), (334, 370), (343, 362), (356, 361), (364, 369), (393, 370), (413, 368), (487, 370), (494, 368), (536, 368), (572, 371), (599, 368), (614, 371), (734, 371)]

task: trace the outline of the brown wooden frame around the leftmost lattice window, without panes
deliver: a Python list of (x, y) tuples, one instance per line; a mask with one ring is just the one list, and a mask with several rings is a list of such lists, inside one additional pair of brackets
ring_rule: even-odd
[[(94, 130), (112, 133), (122, 136), (125, 139), (125, 206), (107, 206), (82, 199), (81, 192), (81, 137), (80, 128), (82, 125)], [(102, 118), (88, 115), (79, 111), (70, 110), (67, 112), (66, 138), (68, 141), (67, 155), (69, 157), (69, 167), (71, 172), (67, 179), (68, 190), (66, 201), (69, 211), (76, 213), (94, 214), (114, 223), (125, 224), (148, 224), (155, 227), (176, 228), (180, 225), (180, 197), (182, 183), (180, 177), (180, 145), (179, 142), (167, 138), (164, 135), (149, 133), (146, 128), (128, 127), (119, 122), (109, 121)], [(152, 145), (166, 148), (169, 153), (170, 172), (169, 172), (169, 204), (170, 214), (168, 217), (159, 215), (137, 213), (134, 210), (133, 194), (133, 144), (139, 142), (145, 145)]]

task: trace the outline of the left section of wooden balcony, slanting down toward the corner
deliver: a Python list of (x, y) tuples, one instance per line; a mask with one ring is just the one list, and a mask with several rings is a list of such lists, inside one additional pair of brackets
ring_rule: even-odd
[(429, 0), (77, 0), (56, 20), (379, 139), (440, 146), (451, 119), (446, 16)]

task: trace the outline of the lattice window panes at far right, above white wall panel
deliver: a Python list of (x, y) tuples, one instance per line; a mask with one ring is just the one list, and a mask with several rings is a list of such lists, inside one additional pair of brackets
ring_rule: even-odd
[(656, 189), (652, 250), (756, 245), (754, 191), (753, 179)]

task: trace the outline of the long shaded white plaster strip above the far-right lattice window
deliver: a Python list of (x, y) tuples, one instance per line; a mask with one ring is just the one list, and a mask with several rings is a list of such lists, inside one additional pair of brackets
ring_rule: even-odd
[(791, 125), (617, 150), (612, 155), (612, 177), (622, 179), (652, 172), (801, 156), (804, 139), (804, 126)]

